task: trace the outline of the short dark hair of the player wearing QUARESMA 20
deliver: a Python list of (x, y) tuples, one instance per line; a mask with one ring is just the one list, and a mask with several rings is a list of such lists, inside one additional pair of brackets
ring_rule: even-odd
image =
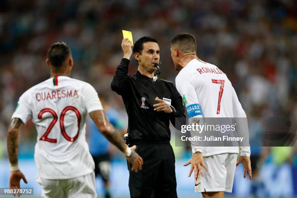
[(49, 63), (52, 66), (62, 66), (70, 53), (70, 49), (64, 42), (57, 42), (51, 45), (48, 51)]

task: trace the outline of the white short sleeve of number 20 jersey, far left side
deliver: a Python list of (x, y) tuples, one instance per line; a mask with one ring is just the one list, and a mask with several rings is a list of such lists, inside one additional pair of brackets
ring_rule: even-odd
[(32, 110), (30, 105), (30, 93), (25, 92), (18, 100), (16, 110), (12, 115), (13, 118), (19, 118), (24, 124), (32, 118)]

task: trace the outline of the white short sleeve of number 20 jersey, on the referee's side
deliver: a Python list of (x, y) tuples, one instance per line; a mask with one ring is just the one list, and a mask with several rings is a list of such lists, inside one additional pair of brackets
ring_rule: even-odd
[(98, 93), (92, 85), (84, 85), (82, 88), (82, 95), (84, 96), (85, 106), (88, 113), (103, 110)]

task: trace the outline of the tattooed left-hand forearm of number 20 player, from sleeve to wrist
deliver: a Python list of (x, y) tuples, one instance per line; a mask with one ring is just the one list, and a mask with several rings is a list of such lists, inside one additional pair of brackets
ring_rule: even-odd
[(10, 164), (17, 163), (18, 156), (18, 132), (24, 123), (19, 118), (14, 118), (7, 133), (7, 151)]

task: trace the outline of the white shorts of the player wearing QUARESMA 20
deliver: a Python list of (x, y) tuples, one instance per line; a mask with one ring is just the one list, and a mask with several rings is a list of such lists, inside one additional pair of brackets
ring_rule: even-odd
[(97, 198), (94, 172), (65, 180), (48, 180), (37, 176), (36, 181), (42, 187), (43, 198)]

